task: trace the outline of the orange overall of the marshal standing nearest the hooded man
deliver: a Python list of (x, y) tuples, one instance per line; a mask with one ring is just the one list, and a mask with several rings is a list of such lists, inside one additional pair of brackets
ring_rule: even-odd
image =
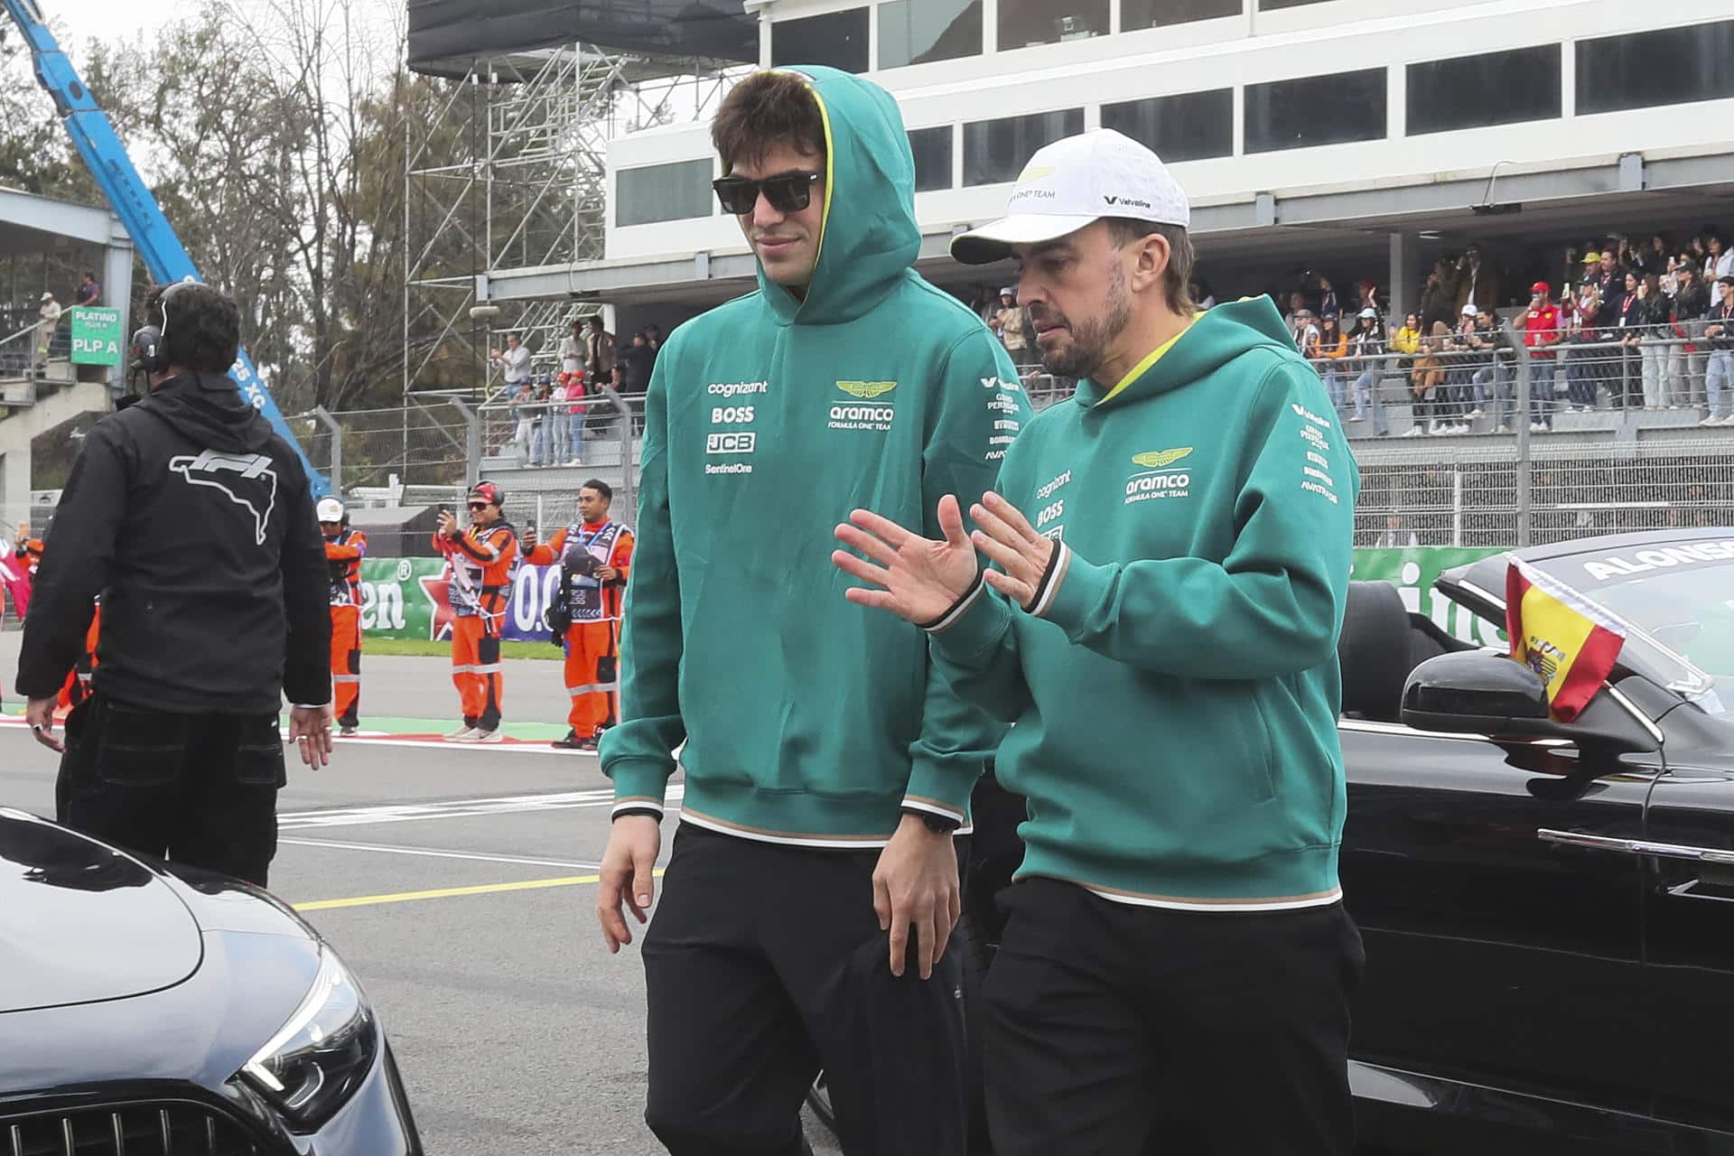
[(633, 563), (633, 532), (603, 518), (555, 530), (544, 546), (524, 558), (531, 565), (562, 563), (570, 548), (583, 548), (598, 565), (619, 570), (612, 579), (565, 574), (572, 626), (565, 631), (565, 692), (572, 709), (565, 721), (579, 738), (614, 726), (621, 702), (621, 605)]

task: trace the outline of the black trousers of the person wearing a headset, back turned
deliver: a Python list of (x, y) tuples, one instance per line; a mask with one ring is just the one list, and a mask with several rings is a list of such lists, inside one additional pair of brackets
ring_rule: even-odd
[(276, 714), (165, 714), (97, 693), (66, 719), (54, 794), (73, 830), (264, 887), (286, 782)]

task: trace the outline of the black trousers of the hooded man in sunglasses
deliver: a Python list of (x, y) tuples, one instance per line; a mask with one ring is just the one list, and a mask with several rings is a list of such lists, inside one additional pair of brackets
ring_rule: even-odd
[(643, 939), (645, 1121), (669, 1153), (796, 1156), (824, 1068), (848, 1156), (962, 1156), (957, 951), (891, 974), (877, 860), (678, 828)]

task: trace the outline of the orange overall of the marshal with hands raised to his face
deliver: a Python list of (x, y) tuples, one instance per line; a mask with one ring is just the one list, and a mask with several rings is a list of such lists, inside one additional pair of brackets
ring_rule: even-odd
[(472, 525), (456, 541), (435, 534), (434, 546), (451, 565), (451, 681), (463, 705), (463, 723), (499, 730), (505, 702), (499, 633), (506, 624), (518, 534), (501, 520), (487, 529)]

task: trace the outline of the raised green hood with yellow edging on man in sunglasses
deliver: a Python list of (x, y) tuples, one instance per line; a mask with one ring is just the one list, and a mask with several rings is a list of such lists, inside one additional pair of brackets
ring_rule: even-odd
[[(834, 68), (786, 69), (806, 76), (825, 123), (825, 215), (818, 265), (799, 302), (765, 276), (759, 293), (782, 324), (855, 321), (896, 286), (921, 251), (916, 158), (896, 101), (884, 88)], [(848, 211), (832, 215), (843, 192)]]

